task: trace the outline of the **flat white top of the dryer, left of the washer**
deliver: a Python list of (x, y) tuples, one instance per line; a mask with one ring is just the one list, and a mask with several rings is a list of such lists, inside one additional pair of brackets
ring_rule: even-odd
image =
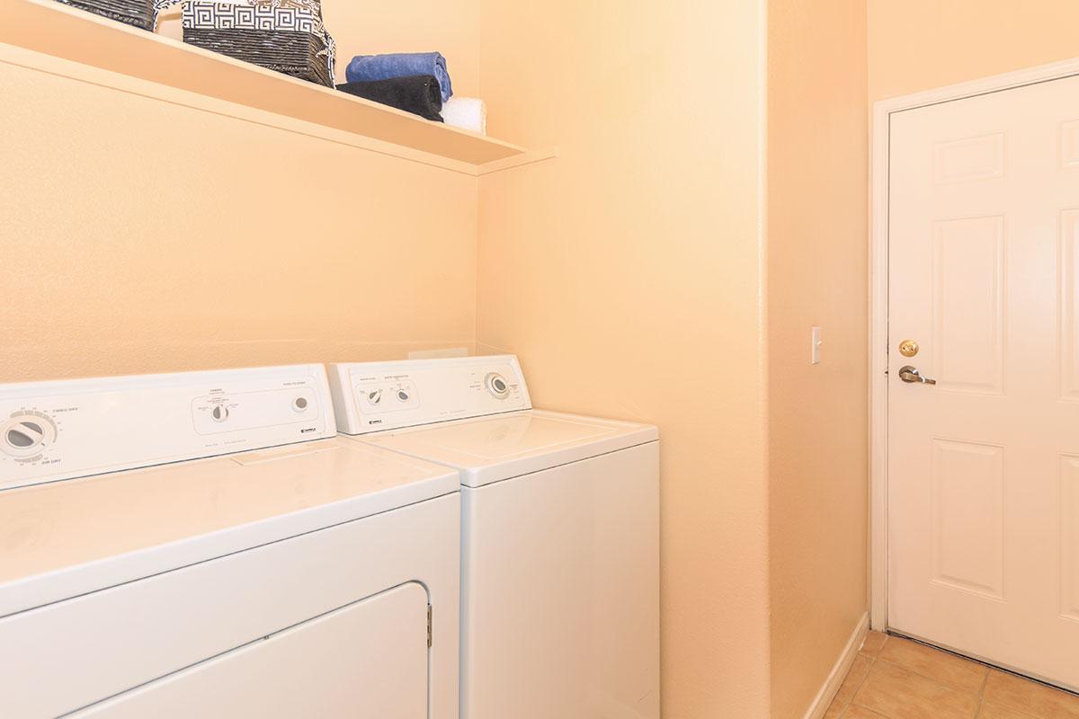
[(0, 495), (0, 617), (459, 490), (342, 438)]

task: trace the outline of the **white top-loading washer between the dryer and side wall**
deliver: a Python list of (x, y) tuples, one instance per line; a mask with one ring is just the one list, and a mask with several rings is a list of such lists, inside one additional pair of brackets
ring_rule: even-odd
[(656, 428), (533, 410), (511, 356), (330, 387), (341, 431), (461, 472), (462, 718), (657, 719)]

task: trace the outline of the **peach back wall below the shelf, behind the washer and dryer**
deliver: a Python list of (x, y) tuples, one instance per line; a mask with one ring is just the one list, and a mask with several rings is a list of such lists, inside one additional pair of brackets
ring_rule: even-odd
[(474, 346), (475, 177), (9, 63), (0, 96), (0, 382)]

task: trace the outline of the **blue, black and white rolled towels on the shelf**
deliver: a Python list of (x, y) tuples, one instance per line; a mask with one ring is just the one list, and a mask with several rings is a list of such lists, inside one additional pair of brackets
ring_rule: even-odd
[(427, 120), (487, 134), (482, 100), (453, 98), (453, 84), (441, 53), (357, 55), (338, 89), (382, 102)]

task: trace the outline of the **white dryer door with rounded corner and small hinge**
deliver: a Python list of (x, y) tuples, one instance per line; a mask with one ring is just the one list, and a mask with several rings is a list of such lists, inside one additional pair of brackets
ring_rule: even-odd
[(427, 593), (386, 590), (71, 716), (425, 719)]

